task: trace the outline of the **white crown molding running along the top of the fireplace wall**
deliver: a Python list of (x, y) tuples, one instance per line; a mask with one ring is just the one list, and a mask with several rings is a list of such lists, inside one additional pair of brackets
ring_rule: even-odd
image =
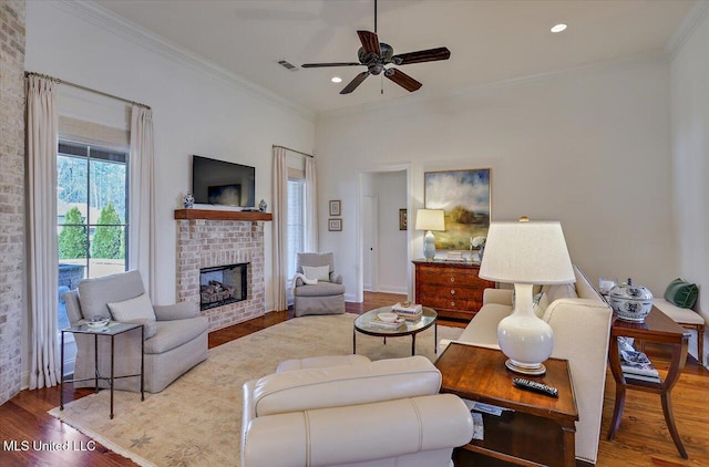
[(234, 72), (217, 65), (204, 56), (168, 41), (165, 38), (147, 31), (146, 29), (125, 20), (100, 4), (84, 0), (62, 0), (61, 2), (55, 2), (53, 4), (64, 12), (85, 20), (103, 31), (115, 34), (127, 42), (137, 44), (145, 50), (169, 59), (207, 76), (217, 79), (223, 83), (235, 87), (237, 91), (264, 100), (281, 110), (295, 113), (308, 121), (315, 121), (316, 115), (312, 111), (258, 84), (255, 84)]

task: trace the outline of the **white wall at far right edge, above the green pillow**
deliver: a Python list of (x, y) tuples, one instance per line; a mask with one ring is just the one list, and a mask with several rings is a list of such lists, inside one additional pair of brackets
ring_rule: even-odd
[(709, 321), (709, 8), (703, 7), (671, 62), (672, 176), (679, 276), (699, 286), (695, 309)]

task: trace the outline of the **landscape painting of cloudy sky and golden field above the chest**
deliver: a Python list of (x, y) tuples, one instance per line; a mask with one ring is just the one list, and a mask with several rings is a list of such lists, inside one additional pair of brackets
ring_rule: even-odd
[(474, 237), (487, 237), (491, 216), (490, 168), (427, 172), (424, 205), (443, 209), (445, 231), (435, 232), (435, 248), (469, 250)]

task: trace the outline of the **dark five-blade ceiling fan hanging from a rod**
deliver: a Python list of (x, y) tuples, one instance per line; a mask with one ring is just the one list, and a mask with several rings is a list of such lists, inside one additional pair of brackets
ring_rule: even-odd
[(362, 46), (357, 52), (359, 62), (332, 62), (332, 63), (305, 63), (304, 69), (323, 68), (323, 66), (367, 66), (367, 71), (361, 72), (347, 86), (340, 91), (340, 94), (349, 94), (357, 89), (362, 81), (370, 74), (378, 75), (384, 73), (389, 80), (399, 84), (409, 92), (419, 90), (422, 84), (409, 76), (404, 72), (394, 68), (384, 68), (386, 65), (408, 65), (410, 63), (434, 62), (438, 60), (448, 60), (451, 51), (448, 48), (436, 48), (419, 50), (417, 52), (400, 53), (394, 55), (391, 45), (379, 42), (377, 35), (377, 0), (374, 0), (374, 32), (357, 31)]

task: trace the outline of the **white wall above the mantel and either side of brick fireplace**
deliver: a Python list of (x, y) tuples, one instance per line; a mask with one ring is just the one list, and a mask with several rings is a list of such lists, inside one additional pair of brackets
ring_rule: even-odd
[[(176, 294), (174, 209), (191, 190), (189, 155), (256, 167), (256, 199), (271, 200), (271, 145), (311, 152), (312, 115), (240, 82), (91, 6), (27, 3), (29, 71), (153, 108), (158, 230), (156, 303)], [(273, 308), (271, 227), (265, 229), (266, 310)]]

